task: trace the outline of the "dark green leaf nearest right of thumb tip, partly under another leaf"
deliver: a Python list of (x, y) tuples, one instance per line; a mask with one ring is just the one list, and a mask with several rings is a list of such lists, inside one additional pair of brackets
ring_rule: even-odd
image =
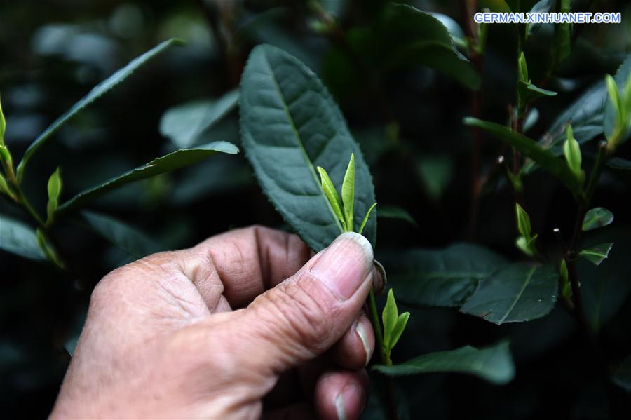
[(460, 306), (477, 283), (506, 264), (495, 252), (458, 243), (441, 250), (409, 250), (388, 264), (388, 280), (409, 304)]

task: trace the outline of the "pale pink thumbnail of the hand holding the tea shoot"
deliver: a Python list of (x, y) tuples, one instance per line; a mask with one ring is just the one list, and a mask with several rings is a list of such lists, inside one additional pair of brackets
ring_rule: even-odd
[(349, 299), (372, 273), (372, 245), (359, 233), (337, 237), (311, 268), (340, 300)]

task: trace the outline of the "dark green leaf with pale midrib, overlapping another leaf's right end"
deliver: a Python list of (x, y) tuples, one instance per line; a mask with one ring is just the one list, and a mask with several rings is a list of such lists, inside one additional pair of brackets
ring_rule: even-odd
[(511, 264), (482, 280), (460, 311), (497, 325), (541, 318), (555, 306), (558, 278), (548, 264)]

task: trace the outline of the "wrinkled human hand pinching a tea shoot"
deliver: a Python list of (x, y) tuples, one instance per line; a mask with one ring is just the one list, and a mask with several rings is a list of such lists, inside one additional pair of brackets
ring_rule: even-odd
[(310, 257), (297, 236), (255, 226), (112, 271), (51, 416), (358, 418), (372, 247), (344, 233)]

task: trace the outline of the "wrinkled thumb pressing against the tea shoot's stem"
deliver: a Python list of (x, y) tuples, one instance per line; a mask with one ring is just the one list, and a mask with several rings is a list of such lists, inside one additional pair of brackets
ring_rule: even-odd
[[(261, 294), (232, 327), (247, 331), (259, 372), (280, 374), (324, 353), (351, 327), (372, 285), (373, 254), (358, 233), (339, 236), (294, 276)], [(252, 363), (252, 354), (247, 358)], [(268, 370), (269, 372), (265, 372)]]

